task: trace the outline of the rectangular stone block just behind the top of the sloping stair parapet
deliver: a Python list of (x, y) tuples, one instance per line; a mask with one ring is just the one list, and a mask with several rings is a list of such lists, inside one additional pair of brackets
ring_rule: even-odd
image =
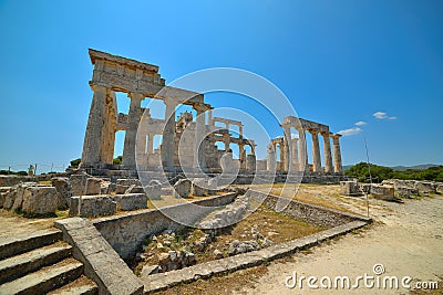
[[(78, 208), (80, 197), (72, 197), (71, 200), (70, 215), (75, 215), (75, 207)], [(83, 196), (80, 202), (80, 215), (84, 218), (112, 215), (116, 210), (117, 203), (107, 196)]]

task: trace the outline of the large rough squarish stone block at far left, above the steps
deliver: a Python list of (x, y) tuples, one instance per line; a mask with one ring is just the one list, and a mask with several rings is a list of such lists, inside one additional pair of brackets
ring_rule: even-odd
[(23, 193), (22, 211), (28, 214), (55, 213), (58, 201), (54, 187), (27, 187)]

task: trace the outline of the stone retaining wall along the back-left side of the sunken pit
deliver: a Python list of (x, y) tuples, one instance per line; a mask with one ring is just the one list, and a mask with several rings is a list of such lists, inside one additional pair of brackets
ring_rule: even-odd
[[(134, 255), (144, 240), (166, 229), (176, 230), (184, 224), (193, 224), (214, 210), (214, 207), (233, 202), (235, 192), (198, 200), (188, 203), (162, 208), (167, 215), (176, 217), (176, 221), (167, 218), (161, 210), (143, 210), (124, 215), (95, 219), (93, 224), (120, 254), (122, 259)], [(195, 207), (198, 204), (199, 207)]]

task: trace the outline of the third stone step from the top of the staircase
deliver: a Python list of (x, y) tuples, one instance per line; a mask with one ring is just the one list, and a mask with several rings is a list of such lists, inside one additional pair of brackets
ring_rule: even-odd
[(63, 286), (83, 273), (83, 264), (74, 259), (65, 259), (54, 265), (0, 285), (0, 294), (47, 294)]

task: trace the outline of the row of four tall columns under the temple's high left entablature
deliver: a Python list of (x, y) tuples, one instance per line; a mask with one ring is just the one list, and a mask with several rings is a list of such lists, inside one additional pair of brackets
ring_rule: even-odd
[[(112, 114), (110, 113), (110, 105), (115, 102), (109, 102), (107, 99), (113, 93), (110, 88), (103, 85), (91, 85), (94, 92), (90, 115), (87, 119), (86, 134), (83, 145), (82, 162), (85, 165), (91, 164), (112, 164), (113, 150), (111, 154), (107, 152), (109, 147), (114, 147), (116, 122), (112, 122)], [(130, 110), (127, 115), (127, 127), (123, 147), (123, 165), (127, 167), (135, 167), (135, 146), (137, 137), (137, 128), (142, 112), (142, 101), (145, 95), (142, 93), (128, 93), (131, 98)], [(165, 110), (165, 127), (162, 140), (162, 162), (163, 167), (172, 169), (174, 168), (174, 150), (175, 150), (175, 108), (178, 105), (177, 99), (164, 98), (166, 105)], [(197, 143), (202, 141), (205, 133), (205, 114), (206, 106), (194, 105), (197, 110), (196, 118), (196, 139)], [(113, 134), (114, 136), (110, 136)], [(148, 135), (147, 154), (153, 152), (153, 135)], [(112, 143), (111, 143), (112, 141)], [(145, 150), (146, 140), (140, 140), (143, 145), (140, 147), (141, 150)], [(205, 140), (202, 141), (202, 145)], [(205, 146), (202, 146), (199, 152), (204, 152)], [(110, 155), (107, 155), (110, 154)], [(198, 157), (195, 157), (198, 158)], [(199, 157), (204, 161), (204, 154)], [(197, 159), (196, 159), (197, 161)]]

